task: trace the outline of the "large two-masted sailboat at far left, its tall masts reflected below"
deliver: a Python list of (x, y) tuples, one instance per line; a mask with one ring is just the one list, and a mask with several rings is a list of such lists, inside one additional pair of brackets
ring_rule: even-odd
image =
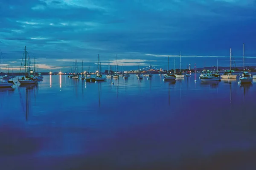
[[(31, 85), (31, 84), (37, 84), (37, 79), (34, 79), (34, 77), (32, 77), (31, 73), (33, 73), (33, 71), (30, 71), (30, 62), (29, 62), (29, 57), (28, 57), (28, 51), (26, 51), (26, 46), (24, 48), (24, 54), (25, 54), (25, 77), (22, 77), (21, 79), (18, 78), (18, 82), (20, 82), (20, 85)], [(24, 55), (23, 55), (24, 56)], [(23, 58), (21, 61), (21, 65), (23, 62)], [(20, 66), (20, 70), (21, 70), (21, 66)]]

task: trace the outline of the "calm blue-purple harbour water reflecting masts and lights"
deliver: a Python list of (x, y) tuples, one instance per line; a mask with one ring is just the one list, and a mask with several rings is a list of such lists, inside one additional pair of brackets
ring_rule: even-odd
[(256, 81), (162, 79), (0, 89), (0, 169), (255, 168)]

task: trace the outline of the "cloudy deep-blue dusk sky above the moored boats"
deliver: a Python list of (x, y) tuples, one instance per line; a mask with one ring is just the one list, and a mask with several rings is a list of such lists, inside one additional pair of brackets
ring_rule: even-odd
[[(256, 0), (1, 0), (1, 71), (19, 70), (24, 47), (40, 71), (256, 66)], [(31, 61), (33, 64), (33, 60)], [(114, 67), (113, 67), (114, 68)], [(120, 68), (119, 68), (120, 69)]]

